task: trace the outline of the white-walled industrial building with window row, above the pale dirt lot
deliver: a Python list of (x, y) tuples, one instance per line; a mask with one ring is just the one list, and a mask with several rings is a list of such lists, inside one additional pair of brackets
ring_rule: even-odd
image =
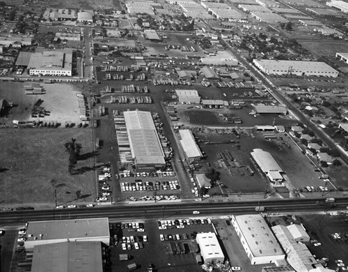
[(27, 66), (29, 75), (72, 76), (72, 50), (32, 53)]

